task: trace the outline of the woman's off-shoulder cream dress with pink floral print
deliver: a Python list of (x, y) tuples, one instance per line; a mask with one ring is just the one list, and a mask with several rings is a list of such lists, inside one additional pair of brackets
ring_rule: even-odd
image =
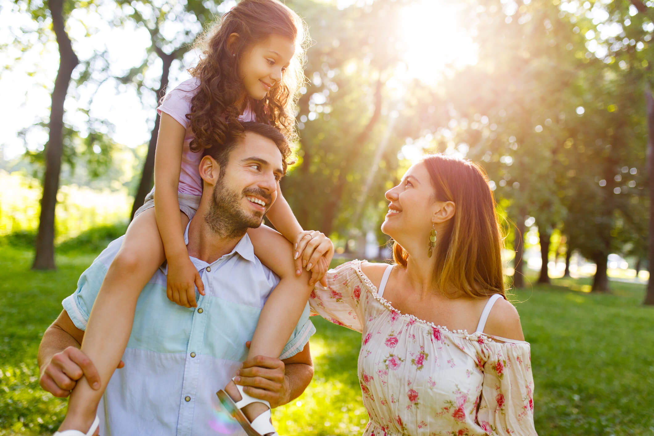
[(536, 435), (528, 343), (402, 314), (377, 295), (358, 260), (326, 277), (328, 286), (316, 284), (309, 303), (362, 333), (364, 436)]

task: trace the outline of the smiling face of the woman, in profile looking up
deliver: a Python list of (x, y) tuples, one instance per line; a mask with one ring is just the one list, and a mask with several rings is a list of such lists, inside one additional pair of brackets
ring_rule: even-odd
[(400, 184), (386, 192), (386, 198), (390, 204), (381, 231), (402, 246), (429, 232), (435, 196), (424, 163), (412, 165)]

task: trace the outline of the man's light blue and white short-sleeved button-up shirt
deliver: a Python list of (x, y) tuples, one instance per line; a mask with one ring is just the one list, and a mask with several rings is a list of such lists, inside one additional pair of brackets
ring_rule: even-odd
[[(122, 239), (101, 252), (80, 277), (75, 293), (63, 300), (79, 329), (86, 328)], [(184, 241), (188, 244), (188, 226)], [(98, 407), (101, 435), (245, 435), (226, 420), (216, 391), (226, 386), (247, 357), (245, 342), (252, 339), (279, 278), (254, 256), (248, 235), (213, 263), (191, 261), (205, 286), (205, 295), (196, 293), (196, 309), (167, 299), (161, 269), (143, 288), (122, 358), (125, 367), (111, 377)], [(313, 333), (307, 305), (280, 358), (303, 350)]]

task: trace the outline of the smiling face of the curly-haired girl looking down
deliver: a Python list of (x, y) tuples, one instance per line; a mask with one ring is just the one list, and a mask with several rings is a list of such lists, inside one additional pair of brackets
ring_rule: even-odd
[(267, 92), (281, 82), (294, 54), (294, 42), (281, 35), (270, 35), (252, 45), (239, 61), (239, 76), (245, 92), (255, 100), (266, 97)]

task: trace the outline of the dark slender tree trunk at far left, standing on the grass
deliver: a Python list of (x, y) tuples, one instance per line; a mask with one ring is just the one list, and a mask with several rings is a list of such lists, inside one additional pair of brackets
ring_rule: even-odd
[(59, 176), (61, 173), (61, 154), (63, 153), (63, 102), (78, 59), (73, 52), (73, 44), (65, 30), (63, 0), (48, 2), (52, 14), (52, 29), (59, 46), (59, 70), (52, 91), (50, 107), (49, 137), (46, 144), (45, 174), (43, 176), (43, 197), (39, 216), (36, 252), (33, 269), (54, 269), (54, 209), (57, 205)]

